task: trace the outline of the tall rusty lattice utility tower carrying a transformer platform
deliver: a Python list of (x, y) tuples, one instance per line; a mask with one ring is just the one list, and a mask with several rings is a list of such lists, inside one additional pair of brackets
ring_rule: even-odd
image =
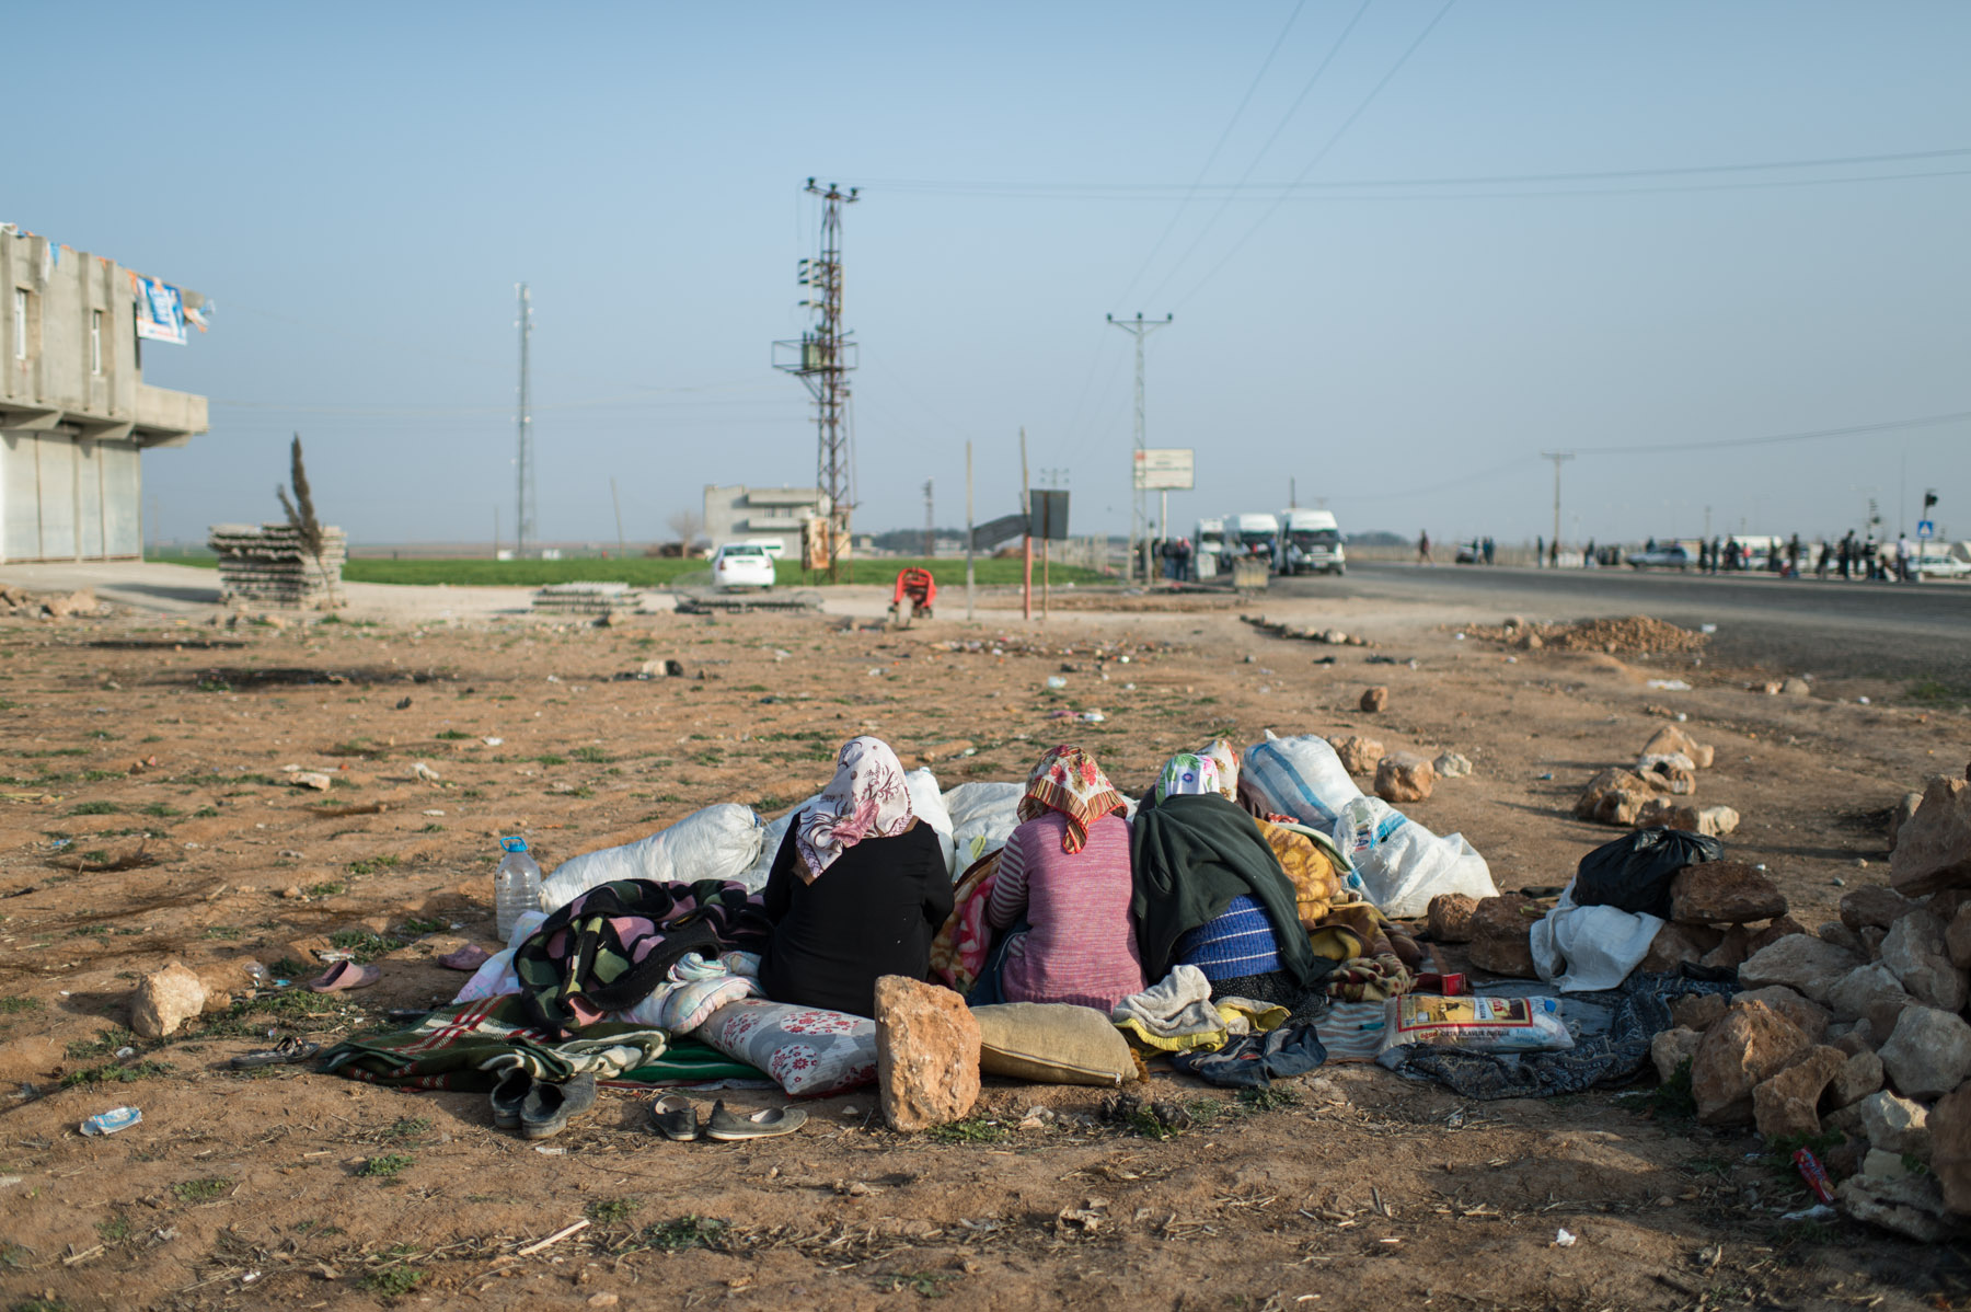
[(850, 548), (850, 510), (855, 508), (848, 418), (855, 343), (842, 329), (842, 207), (853, 205), (857, 191), (842, 191), (836, 183), (820, 187), (808, 179), (806, 193), (822, 197), (822, 250), (814, 260), (800, 262), (800, 286), (810, 288), (810, 297), (800, 303), (814, 311), (814, 327), (800, 341), (773, 343), (773, 366), (800, 378), (814, 396), (814, 483), (828, 498), (830, 579), (840, 577)]

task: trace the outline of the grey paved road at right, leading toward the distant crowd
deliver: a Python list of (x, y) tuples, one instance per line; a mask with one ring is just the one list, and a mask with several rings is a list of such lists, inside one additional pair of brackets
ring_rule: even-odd
[(1340, 579), (1275, 579), (1289, 597), (1470, 605), (1476, 617), (1654, 615), (1717, 624), (1713, 658), (1788, 674), (1941, 680), (1971, 695), (1971, 585), (1350, 563)]

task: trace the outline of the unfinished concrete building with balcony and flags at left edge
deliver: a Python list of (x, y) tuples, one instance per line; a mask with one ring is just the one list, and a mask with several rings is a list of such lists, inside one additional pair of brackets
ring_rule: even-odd
[(205, 398), (144, 382), (144, 341), (205, 329), (197, 292), (0, 223), (0, 561), (144, 554), (146, 447)]

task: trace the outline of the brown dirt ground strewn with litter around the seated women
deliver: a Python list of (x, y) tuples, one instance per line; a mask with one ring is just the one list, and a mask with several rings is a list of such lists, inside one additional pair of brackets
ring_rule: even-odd
[[(840, 615), (4, 623), (8, 1306), (1971, 1302), (1955, 1249), (1786, 1221), (1809, 1200), (1756, 1137), (1616, 1091), (1470, 1103), (1328, 1066), (1234, 1099), (1161, 1074), (1155, 1097), (1196, 1123), (1149, 1139), (1096, 1121), (1100, 1091), (987, 1082), (974, 1119), (934, 1135), (887, 1131), (863, 1089), (755, 1145), (662, 1141), (637, 1099), (605, 1093), (536, 1148), (493, 1131), (483, 1095), (225, 1070), (268, 1034), (329, 1042), (449, 1001), (463, 977), (434, 957), (493, 946), (499, 835), (524, 833), (552, 869), (712, 802), (784, 808), (853, 733), (934, 760), (946, 786), (1021, 778), (1062, 739), (1129, 790), (1220, 733), (1455, 749), (1476, 772), (1405, 810), (1468, 835), (1514, 890), (1563, 885), (1614, 837), (1571, 818), (1575, 794), (1683, 713), (1719, 749), (1697, 800), (1744, 816), (1733, 855), (1770, 863), (1807, 926), (1886, 877), (1886, 810), (1963, 768), (1965, 719), (1894, 705), (1888, 684), (1774, 697), (1746, 684), (1784, 672), (1717, 670), (1701, 650), (1514, 650), (1457, 628), (1496, 615), (1287, 617), (1362, 632), (1360, 648), (1269, 636), (1216, 599), (1072, 605), (1045, 630), (1003, 611), (909, 632)], [(686, 678), (617, 678), (652, 658)], [(1392, 689), (1380, 715), (1356, 709), (1368, 684)], [(1062, 709), (1106, 719), (1068, 729)], [(335, 786), (296, 788), (286, 766)], [(87, 869), (138, 853), (156, 863)], [(156, 1044), (122, 1028), (132, 981), (168, 959), (244, 987), (246, 959), (300, 973), (325, 936), (376, 953), (384, 983), (242, 1001)], [(142, 1125), (77, 1133), (118, 1103)]]

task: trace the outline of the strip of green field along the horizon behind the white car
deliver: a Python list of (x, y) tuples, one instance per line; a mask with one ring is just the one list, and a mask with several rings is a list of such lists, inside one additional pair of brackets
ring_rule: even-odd
[[(154, 556), (173, 565), (217, 565), (217, 558), (199, 554)], [(962, 587), (966, 563), (962, 559), (857, 559), (850, 561), (844, 581), (848, 583), (891, 583), (899, 569), (909, 565), (928, 565), (938, 587)], [(980, 559), (976, 565), (982, 585), (1019, 583), (1021, 563), (1017, 559)], [(688, 575), (700, 575), (690, 579)], [(806, 577), (792, 561), (775, 561), (775, 577), (782, 587), (816, 587), (822, 577)], [(1033, 571), (1041, 577), (1039, 563)], [(453, 587), (540, 587), (544, 583), (629, 583), (633, 587), (666, 587), (684, 579), (692, 583), (712, 583), (712, 565), (704, 559), (646, 558), (629, 556), (619, 559), (579, 558), (579, 559), (388, 559), (380, 556), (357, 556), (343, 565), (347, 583), (449, 583)], [(1112, 583), (1114, 577), (1094, 569), (1053, 567), (1053, 581), (1066, 583)]]

